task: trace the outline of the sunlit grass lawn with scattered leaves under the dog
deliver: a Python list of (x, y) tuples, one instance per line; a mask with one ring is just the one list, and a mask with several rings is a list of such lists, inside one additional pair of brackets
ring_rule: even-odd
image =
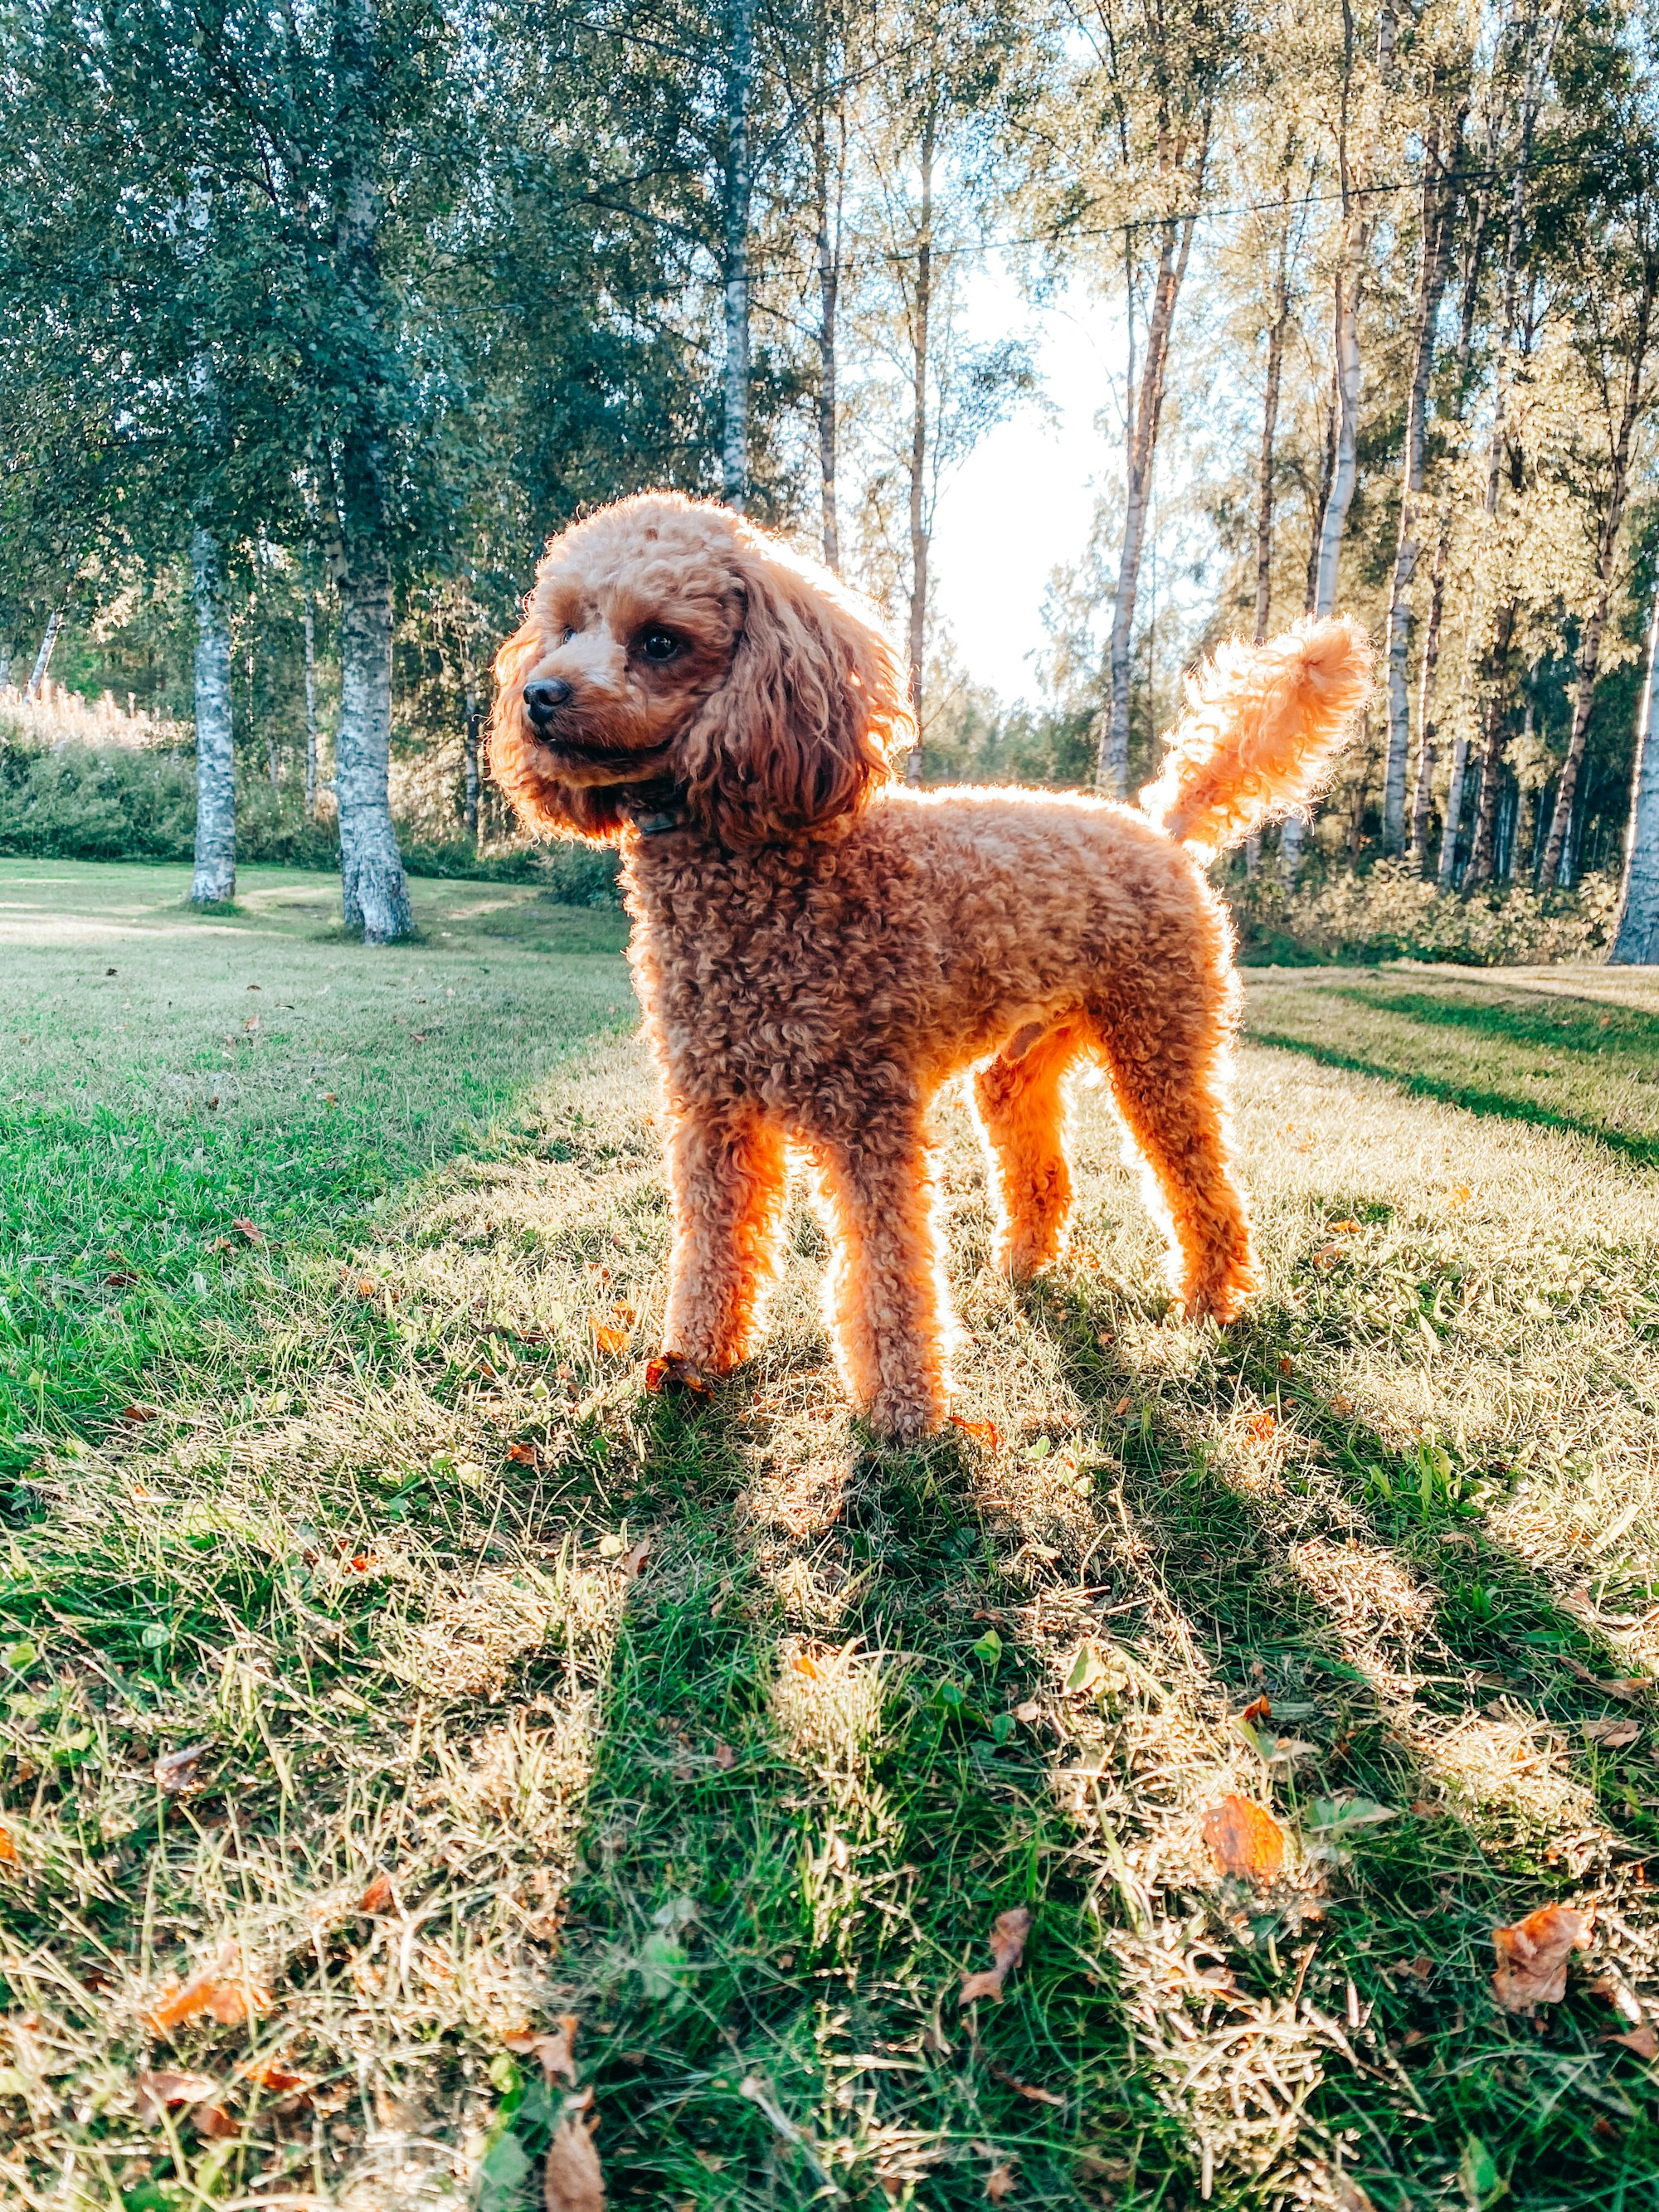
[(0, 865), (0, 2201), (511, 2212), (566, 2015), (613, 2205), (1659, 2201), (1652, 980), (1254, 975), (1225, 1336), (1104, 1091), (1024, 1294), (949, 1102), (964, 1425), (880, 1453), (805, 1212), (641, 1389), (613, 916), (181, 891)]

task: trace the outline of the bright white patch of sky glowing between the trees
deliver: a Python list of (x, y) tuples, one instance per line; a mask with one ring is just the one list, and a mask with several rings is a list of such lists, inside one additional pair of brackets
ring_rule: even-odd
[[(940, 493), (936, 606), (975, 681), (1004, 703), (1035, 703), (1048, 575), (1079, 560), (1095, 484), (1121, 467), (1110, 376), (1113, 365), (1121, 374), (1121, 330), (1082, 288), (1033, 312), (995, 265), (975, 279), (967, 323), (975, 338), (1026, 332), (1044, 398), (993, 429)], [(1102, 411), (1106, 436), (1095, 425)]]

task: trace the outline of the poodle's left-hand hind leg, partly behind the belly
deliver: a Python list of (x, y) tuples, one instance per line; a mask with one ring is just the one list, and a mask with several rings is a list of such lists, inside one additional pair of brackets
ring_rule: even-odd
[[(1022, 1040), (1024, 1033), (1015, 1044)], [(993, 1259), (1015, 1283), (1053, 1261), (1071, 1212), (1062, 1086), (1084, 1042), (1084, 1024), (1064, 1020), (1042, 1031), (1020, 1057), (1009, 1057), (1004, 1046), (973, 1077), (973, 1110), (998, 1194)]]

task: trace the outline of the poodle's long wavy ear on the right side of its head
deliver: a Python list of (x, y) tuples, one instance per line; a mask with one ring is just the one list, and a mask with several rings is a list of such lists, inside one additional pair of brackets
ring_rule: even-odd
[(743, 628), (726, 681), (677, 741), (686, 805), (723, 845), (765, 845), (845, 814), (914, 737), (905, 675), (874, 608), (827, 568), (743, 531)]

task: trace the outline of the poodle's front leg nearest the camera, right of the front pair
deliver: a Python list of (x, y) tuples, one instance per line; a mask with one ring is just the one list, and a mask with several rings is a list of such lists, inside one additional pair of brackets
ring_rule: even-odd
[(949, 1296), (920, 1117), (816, 1139), (830, 1212), (830, 1325), (849, 1396), (878, 1436), (914, 1442), (945, 1420)]

